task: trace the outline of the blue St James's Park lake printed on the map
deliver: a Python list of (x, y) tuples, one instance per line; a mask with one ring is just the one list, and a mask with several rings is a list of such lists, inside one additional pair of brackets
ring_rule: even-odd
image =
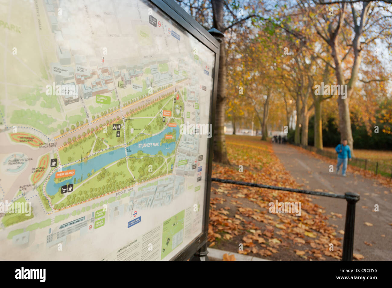
[[(128, 155), (135, 154), (139, 150), (142, 150), (143, 153), (147, 153), (149, 155), (156, 155), (159, 151), (162, 151), (163, 156), (165, 156), (168, 152), (171, 153), (174, 148), (176, 148), (176, 142), (171, 143), (164, 143), (162, 146), (155, 146), (155, 147), (144, 147), (139, 148), (139, 144), (143, 143), (161, 143), (161, 139), (165, 137), (165, 134), (168, 132), (172, 132), (176, 130), (176, 138), (180, 135), (180, 128), (178, 125), (176, 127), (166, 127), (165, 130), (160, 132), (159, 134), (152, 136), (150, 138), (144, 139), (137, 143), (127, 146), (127, 151), (131, 150), (132, 152), (127, 152)], [(101, 168), (105, 167), (109, 163), (116, 162), (125, 157), (125, 149), (124, 147), (119, 147), (113, 151), (106, 152), (104, 154), (100, 154), (95, 156), (94, 158), (88, 159), (87, 163), (84, 161), (82, 163), (75, 163), (73, 165), (67, 166), (64, 170), (72, 170), (75, 169), (75, 177), (79, 179), (83, 174), (83, 181), (87, 179), (87, 173), (91, 173), (91, 170), (94, 169), (94, 173), (100, 170)], [(58, 192), (58, 189), (68, 183), (73, 183), (73, 178), (64, 180), (60, 183), (54, 182), (54, 176), (56, 173), (53, 173), (51, 178), (49, 179), (47, 186), (46, 186), (46, 194), (54, 195)]]

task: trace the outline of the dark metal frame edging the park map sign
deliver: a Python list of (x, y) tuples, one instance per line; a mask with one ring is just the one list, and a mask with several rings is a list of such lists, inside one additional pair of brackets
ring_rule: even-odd
[[(174, 0), (149, 0), (164, 14), (169, 16), (171, 20), (180, 25), (184, 30), (190, 33), (199, 42), (205, 45), (208, 49), (215, 53), (215, 65), (212, 71), (212, 97), (209, 106), (209, 123), (215, 124), (215, 107), (216, 107), (216, 83), (218, 83), (218, 67), (219, 67), (219, 53), (220, 43), (210, 33), (208, 33), (196, 20), (194, 20), (180, 5)], [(213, 131), (214, 129), (212, 129)], [(207, 243), (208, 223), (209, 223), (209, 208), (210, 208), (210, 192), (211, 192), (211, 171), (212, 171), (212, 145), (214, 143), (214, 133), (211, 138), (207, 138), (207, 185), (204, 191), (204, 209), (203, 209), (203, 226), (202, 233), (199, 234), (191, 243), (178, 252), (171, 260), (186, 261), (191, 258), (203, 245)]]

